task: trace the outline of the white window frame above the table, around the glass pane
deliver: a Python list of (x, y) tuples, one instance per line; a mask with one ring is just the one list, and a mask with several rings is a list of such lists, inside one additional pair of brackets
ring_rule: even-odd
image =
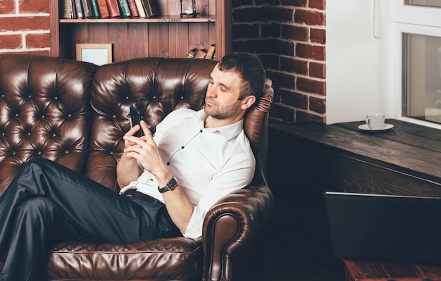
[(394, 108), (393, 115), (400, 116), (400, 120), (409, 123), (416, 123), (428, 127), (435, 127), (441, 129), (441, 124), (432, 123), (415, 118), (404, 117), (402, 112), (402, 46), (404, 34), (428, 35), (434, 37), (441, 37), (441, 8), (404, 5), (404, 0), (392, 0), (392, 49), (397, 50), (392, 52), (392, 61), (395, 65), (395, 73), (393, 76), (392, 93), (394, 96), (392, 103)]

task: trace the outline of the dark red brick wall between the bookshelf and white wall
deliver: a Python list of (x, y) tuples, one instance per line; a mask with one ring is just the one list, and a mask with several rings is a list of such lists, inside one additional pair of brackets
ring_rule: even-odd
[(233, 5), (233, 51), (254, 51), (273, 80), (271, 122), (325, 123), (325, 0)]

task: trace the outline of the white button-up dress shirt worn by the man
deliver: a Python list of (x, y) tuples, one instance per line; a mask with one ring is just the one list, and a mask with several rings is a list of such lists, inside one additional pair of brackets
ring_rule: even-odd
[[(154, 141), (163, 161), (194, 204), (185, 237), (202, 235), (206, 212), (221, 197), (247, 187), (254, 175), (256, 161), (244, 134), (243, 120), (232, 125), (205, 128), (204, 110), (178, 109), (156, 126)], [(158, 182), (149, 171), (121, 189), (136, 188), (164, 202)]]

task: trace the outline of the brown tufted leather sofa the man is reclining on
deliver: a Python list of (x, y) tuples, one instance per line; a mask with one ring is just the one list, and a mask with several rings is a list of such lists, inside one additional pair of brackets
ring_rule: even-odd
[[(97, 66), (0, 54), (0, 194), (33, 157), (49, 158), (118, 192), (116, 163), (130, 128), (129, 106), (142, 110), (153, 132), (170, 111), (204, 105), (215, 64), (137, 58)], [(254, 180), (211, 208), (203, 237), (64, 242), (51, 253), (46, 280), (263, 280), (262, 230), (274, 204), (266, 180), (272, 99), (267, 80), (264, 96), (244, 122), (256, 155)]]

